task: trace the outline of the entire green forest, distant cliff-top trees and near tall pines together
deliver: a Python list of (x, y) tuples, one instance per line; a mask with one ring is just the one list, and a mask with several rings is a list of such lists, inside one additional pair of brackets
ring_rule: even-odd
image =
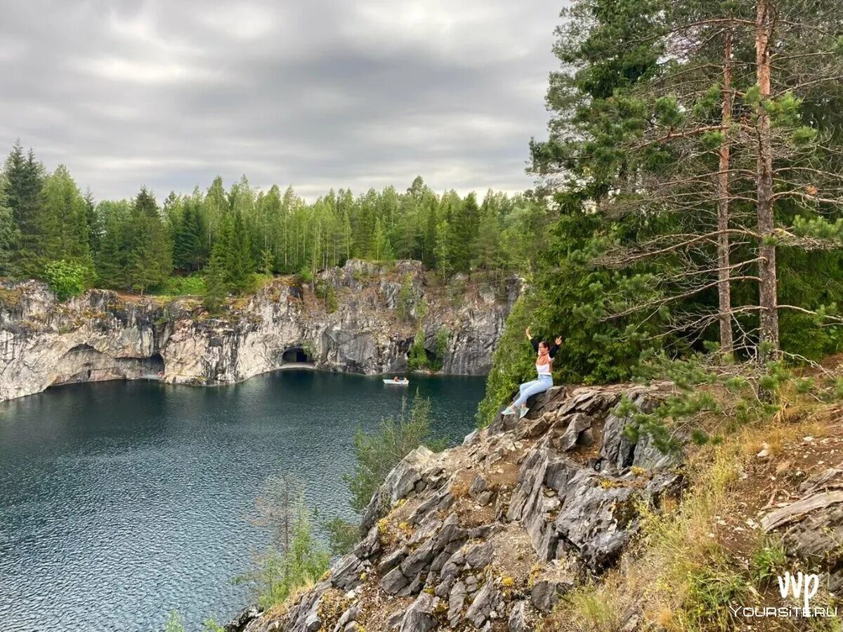
[(524, 277), (481, 417), (529, 375), (522, 332), (565, 340), (556, 378), (630, 378), (642, 356), (806, 362), (843, 346), (843, 10), (830, 0), (577, 0), (529, 143), (533, 190), (460, 196), (220, 178), (96, 201), (18, 142), (0, 182), (0, 273), (204, 294), (349, 258), (443, 278)]

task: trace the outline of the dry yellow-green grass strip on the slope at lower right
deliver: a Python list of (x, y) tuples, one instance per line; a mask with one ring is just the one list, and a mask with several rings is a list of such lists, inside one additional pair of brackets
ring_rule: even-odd
[(829, 415), (827, 406), (795, 397), (771, 418), (739, 426), (722, 444), (696, 449), (687, 462), (690, 489), (681, 502), (663, 503), (661, 511), (638, 506), (641, 535), (621, 565), (566, 595), (541, 629), (609, 632), (636, 611), (645, 628), (735, 629), (728, 607), (759, 603), (760, 592), (787, 569), (787, 558), (775, 539), (758, 538), (748, 543), (754, 547), (749, 568), (738, 563), (717, 541), (717, 518), (729, 515), (736, 483), (762, 446), (785, 458), (789, 443), (805, 435), (822, 437)]

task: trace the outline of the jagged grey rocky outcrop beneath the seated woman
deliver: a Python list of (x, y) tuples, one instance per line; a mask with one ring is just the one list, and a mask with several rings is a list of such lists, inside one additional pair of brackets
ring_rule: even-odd
[(535, 629), (616, 563), (639, 507), (679, 489), (681, 455), (652, 458), (622, 437), (627, 420), (613, 411), (624, 394), (642, 408), (663, 396), (554, 388), (525, 420), (498, 416), (443, 453), (419, 447), (373, 496), (352, 554), (245, 631)]

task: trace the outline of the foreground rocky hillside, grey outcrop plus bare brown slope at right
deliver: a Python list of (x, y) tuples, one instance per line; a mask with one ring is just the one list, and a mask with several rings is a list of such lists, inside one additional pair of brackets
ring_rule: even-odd
[[(616, 404), (626, 396), (638, 410), (652, 411), (671, 393), (668, 383), (555, 387), (530, 402), (524, 420), (498, 414), (459, 447), (438, 454), (416, 448), (373, 496), (352, 553), (281, 607), (246, 608), (226, 632), (592, 629), (572, 621), (577, 614), (571, 604), (577, 592), (608, 576), (614, 576), (612, 587), (594, 593), (595, 599), (613, 600), (595, 615), (611, 615), (599, 619), (599, 629), (668, 629), (654, 623), (665, 619), (659, 614), (664, 611), (652, 608), (663, 596), (653, 595), (663, 591), (679, 599), (675, 608), (683, 607), (685, 593), (683, 586), (653, 580), (658, 564), (666, 562), (658, 552), (655, 560), (647, 557), (647, 521), (652, 527), (662, 513), (677, 516), (688, 498), (711, 492), (701, 482), (705, 468), (699, 458), (712, 453), (689, 447), (665, 454), (647, 437), (632, 439), (624, 432), (629, 420), (619, 416)], [(722, 563), (728, 551), (733, 573), (746, 571), (748, 579), (739, 581), (761, 581), (762, 590), (728, 593), (722, 603), (693, 603), (702, 624), (690, 629), (768, 629), (756, 627), (755, 619), (744, 626), (738, 611), (745, 607), (758, 616), (757, 608), (778, 612), (790, 604), (779, 598), (775, 580), (759, 580), (747, 570), (758, 550), (771, 550), (754, 547), (774, 546), (765, 539), (773, 535), (781, 538), (788, 560), (774, 567), (774, 575), (786, 568), (815, 569), (827, 576), (830, 594), (823, 599), (843, 586), (843, 420), (839, 406), (823, 411), (812, 404), (809, 410), (801, 422), (804, 413), (777, 420), (776, 428), (748, 427), (721, 448), (726, 452), (720, 467), (728, 462), (728, 469), (712, 476), (731, 481), (733, 502), (728, 513), (722, 511), (727, 505), (711, 500), (690, 510), (695, 520), (705, 516), (706, 527), (703, 533), (691, 529), (689, 542), (704, 541), (700, 549), (688, 549), (700, 554), (722, 542), (714, 560)], [(820, 425), (820, 418), (827, 420)], [(765, 440), (760, 451), (753, 437)], [(695, 490), (691, 484), (703, 486)], [(683, 540), (674, 533), (669, 542)], [(565, 598), (569, 592), (572, 601)], [(725, 608), (733, 602), (728, 619)], [(824, 601), (818, 597), (817, 603)]]

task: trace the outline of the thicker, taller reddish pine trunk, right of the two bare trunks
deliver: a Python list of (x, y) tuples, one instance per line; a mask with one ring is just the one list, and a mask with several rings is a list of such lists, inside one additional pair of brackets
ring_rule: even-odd
[(760, 235), (758, 265), (760, 307), (760, 362), (774, 359), (779, 348), (779, 319), (776, 288), (776, 246), (772, 242), (773, 218), (773, 158), (771, 150), (770, 115), (765, 106), (770, 99), (770, 40), (772, 35), (772, 6), (770, 0), (758, 0), (755, 5), (755, 63), (761, 103), (758, 109), (758, 155), (755, 169), (758, 189), (758, 233)]

